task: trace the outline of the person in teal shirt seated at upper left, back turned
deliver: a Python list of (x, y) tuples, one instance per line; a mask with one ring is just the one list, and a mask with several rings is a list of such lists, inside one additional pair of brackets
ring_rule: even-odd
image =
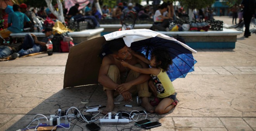
[(12, 33), (21, 33), (26, 22), (31, 23), (29, 18), (20, 12), (19, 5), (14, 4), (12, 13), (8, 15), (8, 28), (0, 31), (0, 45), (3, 44), (3, 39), (10, 36)]

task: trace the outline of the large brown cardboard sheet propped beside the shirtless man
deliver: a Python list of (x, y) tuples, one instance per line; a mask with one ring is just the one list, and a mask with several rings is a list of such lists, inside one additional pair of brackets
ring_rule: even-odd
[(97, 37), (71, 47), (67, 57), (63, 88), (98, 84), (102, 59), (99, 54), (105, 38)]

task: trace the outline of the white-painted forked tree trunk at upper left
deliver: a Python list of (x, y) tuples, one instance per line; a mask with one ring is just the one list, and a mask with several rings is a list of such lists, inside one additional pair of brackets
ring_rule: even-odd
[(63, 9), (62, 9), (62, 3), (60, 0), (57, 0), (57, 4), (58, 4), (58, 8), (59, 11), (56, 11), (54, 9), (54, 7), (52, 6), (52, 0), (45, 0), (45, 2), (47, 3), (47, 7), (50, 9), (50, 11), (55, 15), (55, 17), (57, 17), (57, 19), (64, 23), (64, 15), (63, 15)]

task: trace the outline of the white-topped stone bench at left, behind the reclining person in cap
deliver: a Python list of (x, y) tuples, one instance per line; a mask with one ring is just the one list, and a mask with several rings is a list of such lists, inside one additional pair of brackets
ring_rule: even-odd
[[(74, 44), (78, 44), (81, 43), (83, 41), (86, 40), (90, 40), (96, 37), (100, 37), (100, 33), (104, 30), (104, 28), (98, 28), (98, 29), (88, 29), (88, 30), (83, 30), (80, 32), (69, 32), (67, 33), (69, 36), (71, 36), (73, 38), (73, 42)], [(45, 34), (40, 32), (40, 33), (36, 33), (36, 32), (23, 32), (23, 33), (16, 33), (16, 34), (10, 34), (11, 37), (13, 38), (19, 38), (19, 37), (24, 37), (26, 34), (35, 34), (36, 37), (39, 37), (38, 39), (42, 39), (43, 37), (45, 37)]]

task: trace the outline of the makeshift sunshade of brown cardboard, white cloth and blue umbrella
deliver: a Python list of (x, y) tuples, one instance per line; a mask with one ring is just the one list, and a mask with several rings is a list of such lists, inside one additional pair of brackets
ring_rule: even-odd
[[(109, 54), (109, 52), (102, 52), (104, 44), (106, 41), (121, 37), (128, 47), (144, 53), (147, 57), (150, 56), (150, 50), (156, 47), (171, 49), (169, 52), (175, 64), (171, 65), (168, 74), (172, 74), (169, 76), (172, 81), (194, 71), (196, 61), (192, 53), (196, 53), (196, 51), (186, 44), (148, 29), (122, 30), (71, 47), (67, 58), (63, 87), (98, 84), (98, 74), (102, 62), (99, 56), (104, 57)], [(180, 73), (176, 73), (178, 71)]]

